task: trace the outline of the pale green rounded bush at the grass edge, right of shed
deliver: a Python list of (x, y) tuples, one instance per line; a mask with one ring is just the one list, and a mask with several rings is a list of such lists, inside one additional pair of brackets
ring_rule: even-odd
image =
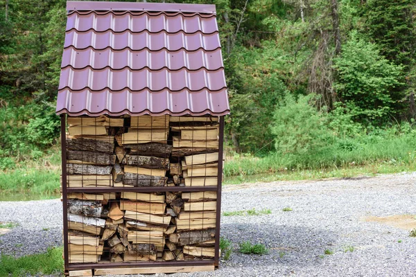
[(275, 109), (272, 134), (279, 154), (305, 155), (324, 151), (333, 143), (322, 112), (309, 105), (313, 96), (286, 96), (284, 103)]

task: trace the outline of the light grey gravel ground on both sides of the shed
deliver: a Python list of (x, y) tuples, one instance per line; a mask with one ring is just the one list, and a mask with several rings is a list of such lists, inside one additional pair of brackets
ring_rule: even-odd
[[(416, 215), (416, 173), (224, 187), (223, 211), (250, 208), (272, 213), (222, 217), (221, 235), (235, 252), (220, 269), (169, 276), (416, 276), (416, 238), (406, 228), (365, 221)], [(21, 256), (61, 244), (61, 211), (58, 199), (0, 202), (0, 222), (19, 224), (1, 236), (0, 252)], [(246, 240), (266, 244), (270, 253), (237, 253)]]

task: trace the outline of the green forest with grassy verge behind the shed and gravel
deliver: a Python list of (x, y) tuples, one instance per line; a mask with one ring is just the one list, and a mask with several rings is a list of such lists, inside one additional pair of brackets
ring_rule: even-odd
[[(415, 170), (415, 1), (166, 2), (216, 4), (226, 184)], [(59, 191), (65, 6), (0, 0), (0, 195)]]

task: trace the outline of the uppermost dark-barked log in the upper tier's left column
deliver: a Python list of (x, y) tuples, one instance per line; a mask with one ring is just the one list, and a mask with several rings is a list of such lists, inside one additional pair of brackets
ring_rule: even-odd
[(112, 153), (114, 136), (69, 137), (67, 138), (67, 149)]

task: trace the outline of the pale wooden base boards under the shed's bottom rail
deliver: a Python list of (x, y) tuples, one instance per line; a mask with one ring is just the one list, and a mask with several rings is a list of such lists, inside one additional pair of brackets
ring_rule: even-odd
[(103, 276), (103, 275), (128, 275), (128, 274), (173, 274), (187, 273), (197, 271), (214, 271), (214, 265), (196, 265), (187, 267), (126, 267), (112, 269), (85, 269), (69, 271), (70, 277), (87, 277), (87, 276)]

